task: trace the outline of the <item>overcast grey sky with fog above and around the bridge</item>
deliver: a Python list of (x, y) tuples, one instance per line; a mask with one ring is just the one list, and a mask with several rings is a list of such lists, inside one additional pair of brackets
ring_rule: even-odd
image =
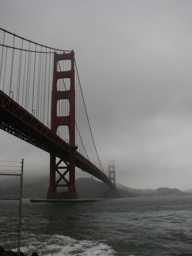
[[(115, 161), (118, 183), (192, 188), (191, 0), (1, 0), (0, 27), (74, 49), (98, 155), (104, 170)], [(49, 174), (48, 153), (0, 138), (1, 160)]]

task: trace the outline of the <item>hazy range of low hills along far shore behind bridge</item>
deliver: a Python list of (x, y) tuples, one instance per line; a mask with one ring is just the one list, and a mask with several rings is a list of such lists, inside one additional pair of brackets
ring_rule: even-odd
[[(180, 196), (192, 195), (192, 192), (182, 192), (177, 188), (157, 188), (155, 189), (139, 189), (129, 188), (120, 183), (116, 184), (118, 188), (117, 197), (138, 197), (138, 196)], [(23, 185), (23, 198), (46, 198), (49, 188), (49, 176)], [(59, 188), (65, 191), (67, 188)], [(59, 192), (58, 189), (58, 192)], [(94, 178), (78, 178), (76, 180), (76, 190), (78, 198), (108, 198), (109, 187)]]

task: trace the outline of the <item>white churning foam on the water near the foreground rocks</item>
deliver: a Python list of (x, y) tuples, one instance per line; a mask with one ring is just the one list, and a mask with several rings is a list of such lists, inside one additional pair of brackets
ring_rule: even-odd
[[(114, 256), (116, 252), (105, 244), (105, 241), (75, 240), (69, 236), (23, 234), (28, 237), (21, 244), (25, 244), (20, 251), (26, 255), (37, 252), (46, 256)], [(21, 236), (22, 240), (22, 236)]]

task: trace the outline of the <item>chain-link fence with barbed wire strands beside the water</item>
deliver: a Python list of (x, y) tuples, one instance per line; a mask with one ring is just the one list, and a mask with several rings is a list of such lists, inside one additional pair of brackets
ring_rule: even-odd
[(20, 255), (22, 162), (0, 161), (0, 246)]

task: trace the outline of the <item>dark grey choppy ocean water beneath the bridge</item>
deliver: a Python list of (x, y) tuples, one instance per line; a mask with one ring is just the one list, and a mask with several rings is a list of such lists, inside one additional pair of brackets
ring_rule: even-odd
[(21, 251), (47, 256), (192, 255), (192, 197), (22, 201)]

